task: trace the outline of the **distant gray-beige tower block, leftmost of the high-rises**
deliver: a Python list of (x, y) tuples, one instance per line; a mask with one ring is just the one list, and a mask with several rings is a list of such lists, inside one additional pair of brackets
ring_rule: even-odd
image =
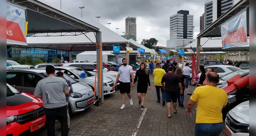
[(135, 37), (136, 41), (136, 17), (125, 18), (125, 35)]

